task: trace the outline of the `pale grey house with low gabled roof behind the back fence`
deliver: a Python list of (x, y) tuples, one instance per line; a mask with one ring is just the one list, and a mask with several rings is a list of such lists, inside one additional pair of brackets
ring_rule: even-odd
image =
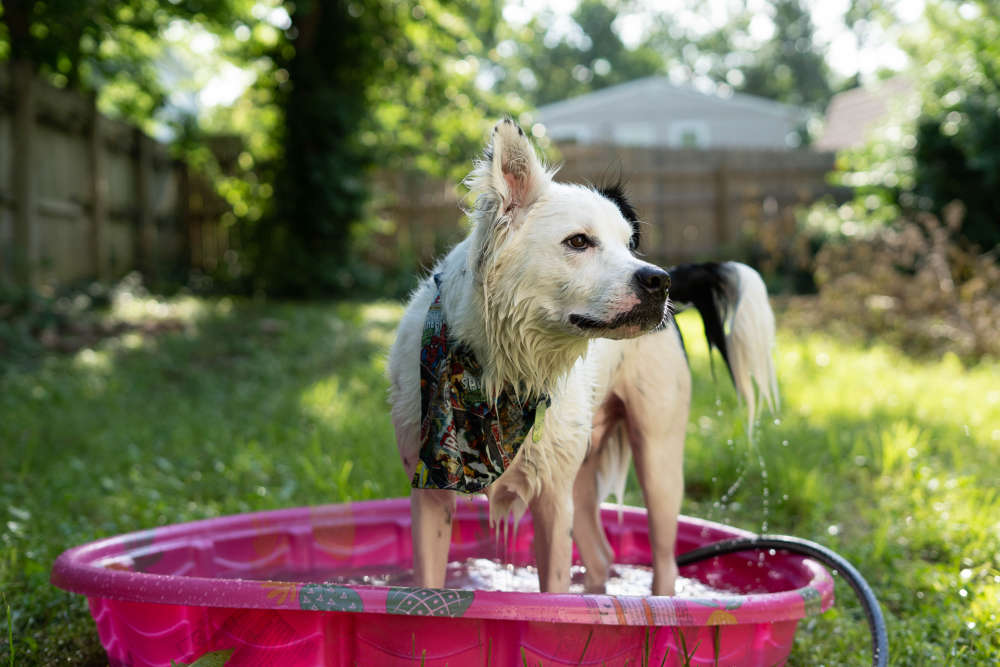
[(807, 112), (753, 95), (703, 93), (647, 77), (539, 107), (557, 143), (676, 148), (798, 146)]

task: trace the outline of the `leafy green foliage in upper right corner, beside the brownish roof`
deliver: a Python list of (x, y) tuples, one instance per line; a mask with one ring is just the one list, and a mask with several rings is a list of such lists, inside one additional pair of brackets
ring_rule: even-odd
[(914, 61), (912, 100), (891, 108), (867, 145), (843, 152), (837, 178), (879, 217), (942, 217), (955, 201), (957, 238), (1000, 244), (1000, 9), (992, 2), (928, 4), (926, 24), (904, 39)]

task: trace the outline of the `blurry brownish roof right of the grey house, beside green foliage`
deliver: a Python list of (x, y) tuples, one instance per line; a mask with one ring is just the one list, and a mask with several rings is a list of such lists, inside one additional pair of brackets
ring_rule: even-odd
[(834, 95), (826, 108), (823, 136), (816, 148), (840, 150), (863, 145), (872, 128), (913, 92), (909, 78), (896, 76), (870, 88), (852, 88)]

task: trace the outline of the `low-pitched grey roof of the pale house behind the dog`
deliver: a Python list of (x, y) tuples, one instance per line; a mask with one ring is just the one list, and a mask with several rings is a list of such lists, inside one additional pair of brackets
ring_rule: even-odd
[(747, 95), (745, 93), (732, 93), (730, 95), (703, 93), (691, 86), (680, 86), (671, 83), (670, 79), (665, 76), (649, 76), (642, 79), (635, 79), (618, 84), (617, 86), (609, 86), (592, 93), (571, 97), (561, 102), (546, 104), (538, 108), (538, 115), (543, 120), (555, 120), (563, 114), (578, 113), (596, 107), (613, 105), (615, 102), (636, 93), (645, 93), (650, 96), (670, 95), (712, 100), (719, 104), (783, 118), (805, 119), (807, 115), (806, 110), (801, 107), (782, 104), (755, 95)]

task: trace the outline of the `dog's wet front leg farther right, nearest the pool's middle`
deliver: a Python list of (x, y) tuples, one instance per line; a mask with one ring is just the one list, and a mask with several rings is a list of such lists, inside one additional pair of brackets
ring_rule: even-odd
[(573, 562), (572, 489), (564, 484), (544, 485), (531, 502), (531, 520), (538, 586), (543, 593), (566, 593)]

